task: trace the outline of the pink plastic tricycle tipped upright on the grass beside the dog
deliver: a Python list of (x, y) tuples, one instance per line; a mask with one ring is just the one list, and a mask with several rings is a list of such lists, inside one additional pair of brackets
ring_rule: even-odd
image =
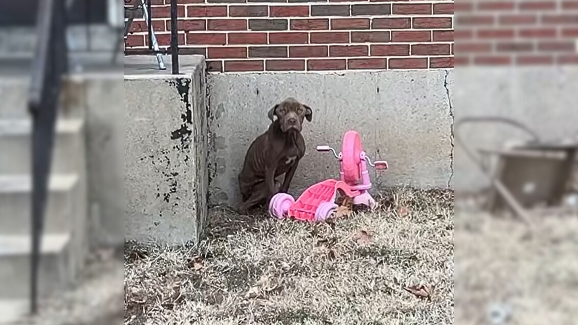
[(375, 200), (368, 192), (371, 182), (367, 165), (375, 169), (387, 169), (387, 161), (380, 160), (372, 163), (363, 151), (361, 137), (357, 131), (346, 132), (339, 154), (329, 146), (317, 146), (317, 151), (331, 151), (335, 158), (339, 159), (341, 179), (327, 179), (314, 184), (303, 191), (297, 201), (286, 193), (275, 194), (269, 202), (271, 216), (279, 219), (294, 217), (305, 221), (324, 221), (338, 208), (335, 204), (338, 190), (353, 198), (354, 205), (362, 204), (369, 208), (375, 206)]

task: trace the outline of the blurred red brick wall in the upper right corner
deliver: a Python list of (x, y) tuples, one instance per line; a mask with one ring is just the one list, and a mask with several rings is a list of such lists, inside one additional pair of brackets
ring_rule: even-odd
[(578, 0), (459, 0), (456, 65), (578, 64)]

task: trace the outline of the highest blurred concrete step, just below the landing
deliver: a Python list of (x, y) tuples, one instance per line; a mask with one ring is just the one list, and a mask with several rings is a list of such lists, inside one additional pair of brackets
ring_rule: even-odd
[[(57, 120), (51, 172), (74, 173), (84, 169), (84, 160), (75, 159), (84, 153), (84, 122), (82, 119)], [(0, 119), (0, 174), (31, 173), (31, 119)]]

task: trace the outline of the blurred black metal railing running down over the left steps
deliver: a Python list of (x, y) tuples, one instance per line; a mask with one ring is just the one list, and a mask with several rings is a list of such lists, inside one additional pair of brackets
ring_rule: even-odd
[(68, 73), (65, 0), (42, 0), (36, 22), (36, 51), (28, 109), (32, 116), (32, 252), (30, 309), (38, 310), (40, 242), (48, 192), (58, 99)]

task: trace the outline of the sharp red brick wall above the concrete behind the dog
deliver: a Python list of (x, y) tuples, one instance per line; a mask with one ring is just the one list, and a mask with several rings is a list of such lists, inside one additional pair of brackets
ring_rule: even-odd
[[(171, 0), (153, 0), (153, 25), (170, 43)], [(209, 71), (439, 69), (454, 65), (453, 1), (178, 0), (180, 53)], [(147, 45), (136, 20), (127, 53)]]

